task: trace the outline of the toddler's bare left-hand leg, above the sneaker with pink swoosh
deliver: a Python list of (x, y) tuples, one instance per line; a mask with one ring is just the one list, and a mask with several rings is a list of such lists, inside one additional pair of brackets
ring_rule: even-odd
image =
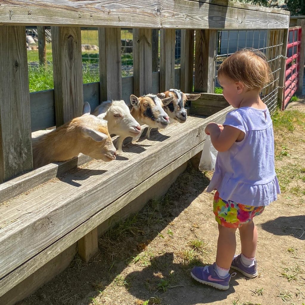
[(218, 224), (218, 231), (216, 264), (223, 269), (230, 269), (236, 250), (236, 228), (227, 228)]

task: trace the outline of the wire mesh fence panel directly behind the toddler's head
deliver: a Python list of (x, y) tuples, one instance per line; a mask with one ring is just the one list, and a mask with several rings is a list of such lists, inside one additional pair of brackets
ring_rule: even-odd
[(263, 52), (271, 67), (273, 81), (263, 88), (261, 99), (273, 112), (277, 107), (280, 62), (282, 57), (284, 30), (220, 30), (217, 32), (214, 86), (219, 87), (217, 71), (228, 56), (242, 48), (253, 48)]

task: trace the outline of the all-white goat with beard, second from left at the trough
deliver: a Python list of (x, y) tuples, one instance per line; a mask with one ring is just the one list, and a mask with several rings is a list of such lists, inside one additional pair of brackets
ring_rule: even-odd
[(117, 142), (118, 152), (122, 152), (123, 141), (127, 137), (135, 138), (141, 133), (140, 124), (132, 117), (128, 106), (123, 100), (106, 101), (95, 108), (92, 113), (99, 116), (105, 113), (109, 134), (120, 136)]

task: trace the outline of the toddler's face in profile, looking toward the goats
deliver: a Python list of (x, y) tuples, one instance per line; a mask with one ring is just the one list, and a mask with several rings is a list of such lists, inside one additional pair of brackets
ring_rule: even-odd
[(234, 108), (238, 108), (242, 102), (244, 85), (239, 81), (234, 81), (223, 75), (218, 76), (218, 82), (223, 88), (222, 94), (227, 102)]

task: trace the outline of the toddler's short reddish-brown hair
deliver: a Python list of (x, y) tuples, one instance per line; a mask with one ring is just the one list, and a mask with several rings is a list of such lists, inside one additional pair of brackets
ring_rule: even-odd
[(242, 49), (227, 57), (218, 69), (218, 76), (221, 75), (259, 91), (273, 78), (264, 53), (254, 49)]

